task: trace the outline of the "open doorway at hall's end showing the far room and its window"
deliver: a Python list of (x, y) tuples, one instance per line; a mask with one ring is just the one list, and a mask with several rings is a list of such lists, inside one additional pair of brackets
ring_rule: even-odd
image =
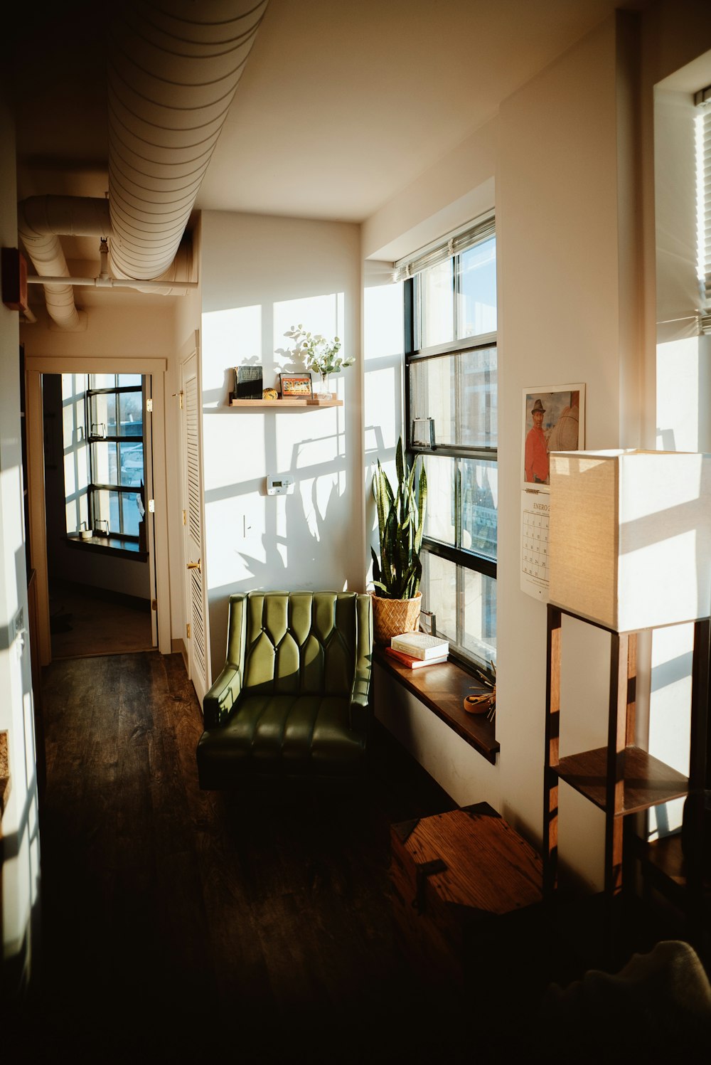
[(45, 506), (52, 658), (150, 651), (146, 499), (150, 378), (45, 374)]

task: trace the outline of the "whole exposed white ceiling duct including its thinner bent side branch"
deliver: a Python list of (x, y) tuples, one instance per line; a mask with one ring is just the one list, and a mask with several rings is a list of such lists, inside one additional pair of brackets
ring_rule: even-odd
[[(109, 42), (109, 200), (37, 196), (18, 206), (38, 275), (69, 278), (60, 235), (109, 236), (115, 278), (186, 291), (180, 282), (192, 277), (192, 256), (181, 241), (267, 2), (118, 5)], [(57, 326), (85, 327), (70, 283), (46, 284), (45, 295)]]

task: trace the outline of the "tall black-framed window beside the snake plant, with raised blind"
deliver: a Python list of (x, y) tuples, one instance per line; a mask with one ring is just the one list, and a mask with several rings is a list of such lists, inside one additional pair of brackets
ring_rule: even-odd
[(452, 654), (496, 662), (497, 353), (493, 218), (396, 264), (407, 446), (428, 481), (423, 609)]

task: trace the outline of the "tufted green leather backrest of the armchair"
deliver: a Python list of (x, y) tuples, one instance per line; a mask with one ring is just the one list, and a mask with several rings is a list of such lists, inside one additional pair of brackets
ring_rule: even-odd
[(366, 605), (353, 592), (230, 596), (228, 661), (244, 663), (245, 692), (349, 695)]

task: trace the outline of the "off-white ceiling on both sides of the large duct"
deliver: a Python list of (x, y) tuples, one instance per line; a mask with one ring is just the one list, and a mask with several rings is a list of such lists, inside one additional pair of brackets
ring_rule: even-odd
[[(269, 0), (196, 207), (362, 222), (613, 10), (644, 5)], [(77, 0), (15, 15), (20, 199), (106, 191), (109, 17)], [(75, 237), (66, 255), (94, 252)]]

